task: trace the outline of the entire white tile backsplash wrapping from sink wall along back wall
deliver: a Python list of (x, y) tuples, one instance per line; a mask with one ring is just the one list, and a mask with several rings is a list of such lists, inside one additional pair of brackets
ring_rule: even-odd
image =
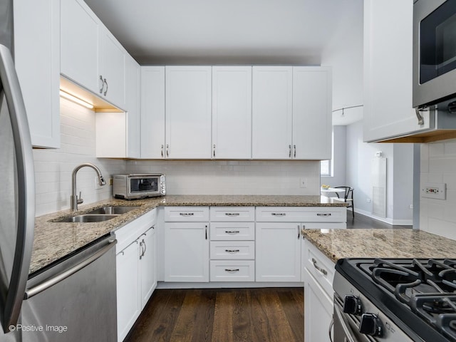
[[(169, 195), (319, 195), (320, 162), (276, 160), (112, 160), (95, 157), (95, 115), (61, 99), (61, 148), (33, 150), (36, 216), (68, 209), (71, 173), (84, 162), (115, 173), (165, 173)], [(95, 172), (78, 171), (84, 204), (111, 197), (112, 187), (95, 189)], [(306, 182), (301, 187), (301, 180)]]

